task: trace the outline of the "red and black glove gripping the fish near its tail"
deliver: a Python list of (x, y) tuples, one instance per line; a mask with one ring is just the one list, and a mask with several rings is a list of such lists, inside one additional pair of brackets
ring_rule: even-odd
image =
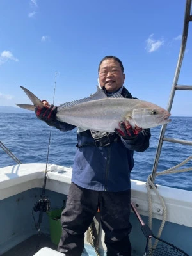
[(56, 120), (56, 113), (58, 111), (58, 107), (54, 105), (45, 106), (43, 108), (36, 107), (35, 113), (36, 116), (45, 122), (55, 121)]

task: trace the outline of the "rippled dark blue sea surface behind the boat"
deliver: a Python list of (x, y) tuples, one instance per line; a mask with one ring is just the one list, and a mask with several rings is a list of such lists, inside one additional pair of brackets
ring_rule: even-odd
[[(172, 117), (166, 137), (192, 141), (192, 117)], [(161, 126), (151, 129), (150, 147), (135, 152), (131, 179), (146, 181), (152, 172)], [(51, 134), (51, 137), (50, 137)], [(50, 146), (49, 146), (50, 140)], [(61, 132), (36, 118), (34, 113), (0, 113), (0, 141), (22, 163), (48, 163), (72, 166), (76, 153), (76, 129)], [(49, 155), (47, 154), (49, 148)], [(164, 141), (157, 172), (171, 168), (192, 155), (192, 147)], [(15, 161), (0, 147), (0, 168)], [(182, 166), (191, 168), (192, 161)], [(156, 184), (192, 191), (192, 171), (163, 175)]]

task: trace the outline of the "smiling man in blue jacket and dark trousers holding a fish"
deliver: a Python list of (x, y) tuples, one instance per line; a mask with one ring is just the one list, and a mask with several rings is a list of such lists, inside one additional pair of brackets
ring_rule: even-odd
[[(121, 93), (132, 98), (123, 86), (125, 80), (122, 61), (115, 56), (104, 57), (99, 64), (99, 84), (111, 97)], [(36, 115), (61, 131), (74, 125), (56, 120), (53, 105), (36, 108)], [(129, 233), (131, 224), (130, 172), (134, 166), (134, 150), (143, 152), (149, 147), (150, 130), (136, 127), (122, 120), (115, 132), (77, 131), (77, 152), (74, 158), (72, 184), (66, 208), (61, 214), (62, 236), (58, 251), (79, 256), (84, 248), (84, 232), (100, 209), (102, 229), (108, 256), (131, 255)]]

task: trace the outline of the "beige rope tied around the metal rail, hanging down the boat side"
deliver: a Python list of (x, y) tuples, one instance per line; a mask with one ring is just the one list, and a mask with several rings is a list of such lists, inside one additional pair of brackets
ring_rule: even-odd
[[(156, 173), (156, 176), (159, 176), (159, 175), (163, 175), (163, 174), (171, 174), (171, 173), (179, 173), (179, 172), (188, 172), (188, 171), (191, 171), (192, 170), (192, 167), (191, 168), (186, 168), (186, 169), (177, 169), (179, 168), (180, 166), (183, 166), (184, 164), (188, 163), (190, 160), (192, 159), (192, 156), (189, 156), (188, 158), (186, 158), (184, 161), (182, 161), (180, 164), (177, 164), (175, 166), (173, 166), (172, 168), (169, 168), (167, 170), (164, 170), (163, 172), (159, 172), (159, 173)], [(147, 195), (148, 195), (148, 226), (150, 227), (150, 229), (152, 229), (152, 196), (151, 196), (151, 190), (153, 189), (154, 192), (156, 193), (156, 195), (158, 196), (160, 202), (161, 202), (161, 205), (163, 207), (163, 218), (162, 218), (162, 221), (161, 221), (161, 225), (159, 227), (159, 232), (157, 234), (157, 237), (161, 237), (161, 233), (163, 231), (163, 228), (164, 228), (164, 224), (166, 222), (166, 205), (164, 204), (164, 200), (162, 198), (162, 196), (159, 194), (159, 192), (157, 191), (157, 188), (156, 186), (154, 185), (154, 183), (151, 181), (151, 175), (148, 176), (148, 179), (147, 179), (147, 183), (146, 183), (146, 186), (147, 186)], [(149, 245), (151, 248), (155, 249), (156, 246), (157, 246), (157, 243), (158, 243), (158, 240), (156, 239), (156, 241), (154, 242), (154, 244), (152, 245), (152, 241), (150, 239), (149, 241)]]

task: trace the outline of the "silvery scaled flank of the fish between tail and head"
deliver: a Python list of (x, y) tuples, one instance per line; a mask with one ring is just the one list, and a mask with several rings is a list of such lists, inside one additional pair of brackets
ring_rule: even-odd
[[(139, 102), (137, 102), (139, 103)], [(84, 129), (113, 132), (134, 109), (135, 100), (107, 98), (59, 108), (56, 118)]]

